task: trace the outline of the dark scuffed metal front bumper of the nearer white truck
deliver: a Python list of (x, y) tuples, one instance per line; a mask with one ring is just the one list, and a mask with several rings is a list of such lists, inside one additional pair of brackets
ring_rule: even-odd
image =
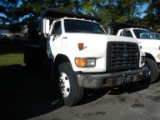
[(149, 77), (149, 69), (147, 66), (137, 70), (114, 73), (77, 74), (79, 86), (84, 88), (114, 87), (141, 81), (147, 77)]

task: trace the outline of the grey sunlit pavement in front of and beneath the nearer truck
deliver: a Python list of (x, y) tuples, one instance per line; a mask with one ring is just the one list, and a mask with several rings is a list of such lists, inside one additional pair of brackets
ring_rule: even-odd
[(160, 120), (160, 83), (130, 89), (93, 90), (79, 106), (61, 106), (30, 120)]

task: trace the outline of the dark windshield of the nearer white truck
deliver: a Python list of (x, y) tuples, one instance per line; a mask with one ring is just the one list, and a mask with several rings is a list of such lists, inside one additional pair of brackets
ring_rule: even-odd
[(66, 19), (64, 26), (66, 32), (106, 34), (98, 23), (89, 21)]

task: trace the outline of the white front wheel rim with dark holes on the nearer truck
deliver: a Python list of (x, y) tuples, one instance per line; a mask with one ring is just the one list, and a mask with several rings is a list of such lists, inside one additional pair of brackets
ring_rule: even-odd
[(67, 74), (64, 72), (60, 73), (59, 85), (63, 97), (68, 97), (70, 93), (70, 83)]

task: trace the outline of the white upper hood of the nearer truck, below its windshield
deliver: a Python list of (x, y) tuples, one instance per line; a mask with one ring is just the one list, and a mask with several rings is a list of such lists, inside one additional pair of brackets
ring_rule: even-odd
[(84, 50), (96, 50), (102, 51), (106, 50), (106, 45), (110, 41), (116, 42), (132, 42), (137, 43), (137, 40), (134, 38), (107, 35), (107, 34), (84, 34), (84, 33), (72, 33), (65, 34), (62, 36), (64, 39), (63, 47), (78, 49), (78, 43), (84, 44)]

